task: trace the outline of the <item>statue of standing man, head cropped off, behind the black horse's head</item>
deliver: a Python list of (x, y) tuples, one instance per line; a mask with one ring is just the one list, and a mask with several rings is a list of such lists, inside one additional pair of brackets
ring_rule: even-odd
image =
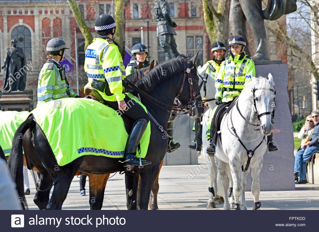
[(164, 49), (165, 60), (173, 58), (173, 55), (177, 57), (180, 53), (177, 51), (177, 45), (174, 39), (176, 32), (173, 28), (177, 25), (169, 16), (169, 4), (167, 1), (155, 0), (154, 13), (157, 24), (157, 37), (159, 38), (159, 44)]

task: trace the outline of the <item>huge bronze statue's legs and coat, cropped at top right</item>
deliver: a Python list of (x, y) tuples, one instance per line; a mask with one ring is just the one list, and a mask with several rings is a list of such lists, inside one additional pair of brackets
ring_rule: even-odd
[(254, 36), (255, 55), (253, 60), (269, 60), (268, 37), (264, 19), (276, 20), (284, 14), (297, 9), (297, 0), (268, 0), (265, 10), (262, 0), (231, 0), (229, 24), (233, 35), (241, 35), (247, 41), (246, 54), (250, 54), (246, 22), (248, 21)]

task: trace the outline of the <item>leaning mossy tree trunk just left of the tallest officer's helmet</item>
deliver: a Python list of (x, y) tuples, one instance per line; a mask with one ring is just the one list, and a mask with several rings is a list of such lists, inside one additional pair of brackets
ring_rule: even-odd
[[(93, 41), (93, 36), (90, 32), (90, 29), (86, 26), (83, 16), (81, 14), (81, 11), (78, 7), (78, 4), (75, 2), (75, 0), (67, 0), (70, 8), (72, 10), (73, 16), (78, 24), (78, 27), (80, 28), (80, 31), (82, 32), (84, 39), (85, 39), (85, 45), (84, 45), (84, 51), (86, 50), (87, 46), (89, 46)], [(76, 48), (77, 49), (77, 48)]]

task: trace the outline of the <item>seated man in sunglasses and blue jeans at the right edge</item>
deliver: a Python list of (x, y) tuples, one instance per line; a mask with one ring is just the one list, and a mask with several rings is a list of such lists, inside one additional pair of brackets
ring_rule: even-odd
[(295, 154), (295, 165), (294, 165), (295, 180), (297, 179), (296, 177), (298, 177), (298, 174), (299, 174), (299, 180), (296, 181), (295, 184), (308, 183), (306, 162), (311, 159), (314, 153), (317, 153), (319, 151), (319, 123), (318, 123), (319, 117), (318, 116), (319, 116), (319, 112), (317, 110), (314, 110), (311, 112), (311, 120), (309, 116), (306, 119), (306, 124), (309, 122), (309, 129), (310, 129), (311, 121), (313, 121), (314, 127), (313, 127), (313, 132), (310, 136), (311, 139), (309, 139), (310, 141), (307, 141), (307, 136), (306, 136), (306, 142), (301, 145), (300, 147), (301, 149), (297, 151), (297, 153)]

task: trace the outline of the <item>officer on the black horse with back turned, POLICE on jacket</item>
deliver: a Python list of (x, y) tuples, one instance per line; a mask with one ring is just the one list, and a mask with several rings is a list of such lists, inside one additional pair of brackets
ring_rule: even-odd
[[(136, 149), (149, 122), (149, 116), (138, 104), (124, 94), (122, 80), (125, 79), (125, 68), (119, 45), (112, 40), (115, 33), (115, 20), (108, 14), (101, 14), (95, 20), (96, 38), (85, 51), (84, 70), (88, 83), (84, 89), (91, 87), (115, 110), (135, 120), (127, 140), (124, 167), (139, 166)], [(125, 110), (125, 111), (124, 111)], [(151, 164), (142, 161), (142, 165)]]

